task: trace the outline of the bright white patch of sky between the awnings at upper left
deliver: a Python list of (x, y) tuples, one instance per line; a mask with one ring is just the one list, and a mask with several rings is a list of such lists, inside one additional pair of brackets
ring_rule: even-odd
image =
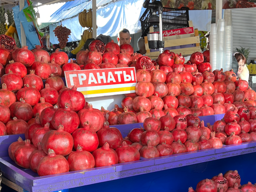
[[(38, 4), (40, 4), (40, 3), (38, 3)], [(40, 18), (37, 19), (38, 24), (49, 22), (50, 15), (55, 13), (55, 11), (57, 11), (61, 6), (63, 6), (63, 4), (65, 4), (65, 2), (55, 3), (55, 4), (50, 4), (50, 5), (43, 5), (41, 7), (34, 8), (35, 12), (37, 12), (37, 9), (38, 9), (38, 12), (40, 14)]]

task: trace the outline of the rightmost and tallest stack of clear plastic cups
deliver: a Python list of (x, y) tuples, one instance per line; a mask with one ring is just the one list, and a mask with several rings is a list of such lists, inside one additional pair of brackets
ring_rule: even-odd
[(225, 71), (232, 69), (232, 50), (233, 50), (233, 27), (232, 13), (230, 9), (225, 9), (224, 19), (226, 21), (225, 28)]

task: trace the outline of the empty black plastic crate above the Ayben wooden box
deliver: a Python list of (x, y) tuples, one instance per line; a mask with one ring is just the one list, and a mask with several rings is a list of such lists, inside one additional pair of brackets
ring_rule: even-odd
[[(189, 21), (188, 10), (189, 10), (188, 7), (182, 7), (181, 9), (163, 7), (163, 12), (162, 12), (163, 31), (168, 30), (169, 27), (171, 26), (180, 26), (178, 28), (188, 27), (188, 21)], [(158, 11), (156, 14), (159, 16)], [(158, 25), (147, 22), (151, 15), (152, 15), (152, 9), (146, 9), (146, 11), (140, 17), (142, 37), (146, 36), (147, 33), (149, 33), (149, 28), (151, 26), (154, 26), (155, 29), (158, 28)]]

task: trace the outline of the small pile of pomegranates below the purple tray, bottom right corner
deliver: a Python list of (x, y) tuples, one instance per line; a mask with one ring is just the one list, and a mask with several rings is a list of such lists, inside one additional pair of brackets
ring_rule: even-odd
[(241, 185), (241, 177), (237, 170), (229, 170), (224, 175), (220, 173), (212, 177), (212, 179), (203, 179), (197, 183), (194, 191), (192, 187), (188, 188), (188, 192), (255, 192), (256, 183), (253, 185), (248, 182)]

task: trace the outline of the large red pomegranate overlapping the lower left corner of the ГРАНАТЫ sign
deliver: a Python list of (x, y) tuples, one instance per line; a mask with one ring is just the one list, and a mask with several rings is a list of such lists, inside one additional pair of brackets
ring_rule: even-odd
[(81, 92), (77, 91), (77, 87), (72, 87), (72, 89), (66, 89), (59, 94), (59, 107), (64, 108), (66, 103), (70, 105), (72, 111), (79, 111), (85, 106), (85, 98)]

